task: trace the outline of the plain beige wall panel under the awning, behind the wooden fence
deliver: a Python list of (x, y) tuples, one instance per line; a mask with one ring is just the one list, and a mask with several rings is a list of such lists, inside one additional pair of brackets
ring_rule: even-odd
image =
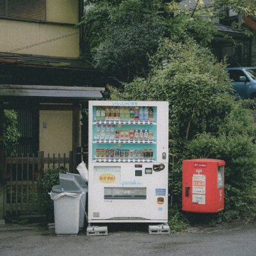
[(40, 110), (39, 115), (39, 150), (68, 157), (72, 151), (72, 111)]

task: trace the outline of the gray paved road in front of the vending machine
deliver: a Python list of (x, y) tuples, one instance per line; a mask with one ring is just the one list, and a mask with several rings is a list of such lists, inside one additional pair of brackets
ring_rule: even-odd
[[(123, 230), (122, 230), (123, 229)], [(218, 255), (255, 256), (256, 223), (235, 221), (214, 228), (192, 227), (170, 235), (149, 235), (147, 227), (139, 232), (109, 227), (108, 236), (56, 237), (39, 225), (0, 227), (1, 256), (136, 256), (136, 255)]]

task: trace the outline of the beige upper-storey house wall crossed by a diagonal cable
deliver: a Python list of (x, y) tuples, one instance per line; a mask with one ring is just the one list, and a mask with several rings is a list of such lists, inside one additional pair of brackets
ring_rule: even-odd
[[(20, 49), (15, 53), (78, 58), (79, 29), (70, 25), (77, 24), (78, 19), (78, 0), (47, 0), (46, 22), (42, 23), (0, 19), (0, 52), (8, 52), (13, 49), (77, 33), (76, 35), (29, 47), (28, 49)], [(63, 24), (52, 24), (51, 22)]]

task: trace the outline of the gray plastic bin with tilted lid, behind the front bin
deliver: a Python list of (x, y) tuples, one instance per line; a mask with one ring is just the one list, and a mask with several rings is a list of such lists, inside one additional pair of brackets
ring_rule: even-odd
[(81, 196), (79, 205), (79, 228), (84, 227), (84, 216), (85, 216), (85, 206), (86, 206), (86, 195), (88, 193), (88, 185), (86, 184), (83, 177), (76, 173), (60, 173), (60, 185), (64, 189), (77, 189), (82, 188), (84, 194)]

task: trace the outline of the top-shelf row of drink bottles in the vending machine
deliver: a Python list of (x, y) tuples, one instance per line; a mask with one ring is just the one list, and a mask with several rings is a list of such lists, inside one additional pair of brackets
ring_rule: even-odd
[(154, 108), (152, 107), (118, 107), (118, 106), (96, 106), (95, 120), (106, 121), (138, 121), (153, 122)]

